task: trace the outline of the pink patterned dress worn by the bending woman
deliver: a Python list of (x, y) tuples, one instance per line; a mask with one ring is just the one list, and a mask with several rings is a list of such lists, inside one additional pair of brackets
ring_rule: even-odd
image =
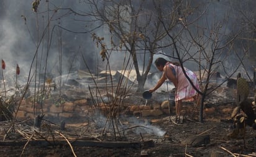
[[(188, 79), (186, 78), (181, 66), (176, 66), (171, 63), (167, 63), (167, 66), (171, 68), (173, 74), (178, 79), (178, 86), (176, 87), (175, 92), (175, 101), (193, 101), (193, 96), (196, 96), (197, 92), (190, 84), (190, 81), (188, 81)], [(194, 74), (193, 71), (188, 70), (187, 68), (185, 68), (185, 71), (194, 86), (199, 89), (198, 78), (196, 77), (196, 74)]]

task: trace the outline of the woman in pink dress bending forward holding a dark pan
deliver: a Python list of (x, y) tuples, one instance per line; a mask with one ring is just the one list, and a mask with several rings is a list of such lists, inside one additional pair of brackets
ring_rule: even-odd
[[(169, 79), (175, 86), (175, 109), (176, 121), (180, 120), (180, 110), (182, 101), (196, 101), (196, 89), (190, 84), (179, 63), (171, 63), (164, 58), (157, 58), (155, 65), (159, 71), (163, 71), (162, 77), (158, 80), (155, 87), (149, 89), (154, 92), (158, 87), (162, 86), (166, 79)], [(196, 74), (185, 68), (187, 76), (190, 78), (194, 86), (199, 89), (198, 78)]]

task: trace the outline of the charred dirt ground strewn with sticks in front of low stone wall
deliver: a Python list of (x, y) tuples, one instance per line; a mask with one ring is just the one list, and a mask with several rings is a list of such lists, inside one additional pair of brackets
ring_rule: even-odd
[[(225, 92), (225, 93), (224, 93)], [(65, 130), (60, 126), (47, 121), (42, 127), (34, 128), (33, 120), (16, 122), (15, 132), (6, 132), (10, 128), (10, 122), (1, 122), (1, 140), (11, 141), (9, 144), (1, 143), (1, 156), (256, 156), (256, 131), (252, 127), (245, 127), (245, 134), (229, 137), (234, 131), (234, 120), (231, 119), (232, 109), (235, 107), (232, 96), (228, 92), (219, 89), (214, 95), (206, 99), (209, 102), (204, 109), (204, 122), (198, 122), (196, 115), (188, 117), (185, 123), (176, 124), (165, 114), (154, 117), (134, 117), (124, 115), (120, 121), (123, 124), (133, 122), (130, 128), (123, 130), (120, 137), (114, 138), (111, 133), (101, 135), (103, 127), (95, 125), (89, 120), (73, 120), (66, 122)], [(231, 94), (232, 95), (232, 94)], [(137, 94), (133, 95), (138, 96)], [(132, 96), (130, 96), (132, 97)], [(152, 97), (154, 99), (154, 97)], [(129, 101), (138, 101), (130, 98)], [(134, 103), (134, 102), (130, 102)], [(149, 102), (157, 103), (157, 102)], [(207, 104), (207, 103), (206, 103)], [(91, 117), (93, 118), (93, 117)], [(128, 120), (129, 119), (129, 120)], [(111, 127), (110, 127), (111, 128)], [(148, 132), (153, 130), (153, 132)], [(204, 140), (196, 143), (190, 140), (194, 137), (204, 137)], [(66, 138), (66, 140), (65, 140)], [(53, 141), (48, 141), (48, 140)], [(33, 140), (47, 141), (43, 145), (33, 143)], [(57, 144), (58, 140), (64, 141)], [(80, 140), (106, 142), (97, 146), (74, 146), (73, 141)], [(21, 143), (24, 141), (24, 143)], [(29, 142), (27, 142), (29, 141)], [(67, 141), (70, 141), (70, 145)], [(120, 142), (120, 146), (111, 146), (107, 142)], [(126, 143), (139, 143), (136, 145), (124, 145)], [(51, 143), (51, 144), (50, 144)], [(194, 144), (196, 143), (196, 144)], [(123, 148), (122, 148), (123, 147)]]

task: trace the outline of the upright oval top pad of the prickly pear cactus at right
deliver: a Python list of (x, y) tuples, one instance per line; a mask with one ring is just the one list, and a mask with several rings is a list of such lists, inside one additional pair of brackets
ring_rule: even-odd
[(249, 95), (249, 84), (244, 78), (237, 78), (237, 101), (243, 102)]

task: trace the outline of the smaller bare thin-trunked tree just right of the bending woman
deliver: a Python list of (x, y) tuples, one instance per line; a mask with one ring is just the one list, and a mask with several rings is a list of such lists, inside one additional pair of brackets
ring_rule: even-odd
[[(175, 56), (180, 61), (185, 72), (183, 64), (186, 61), (192, 61), (194, 65), (198, 66), (199, 79), (201, 81), (201, 91), (198, 93), (201, 95), (199, 122), (203, 122), (203, 104), (204, 99), (208, 94), (216, 90), (216, 88), (208, 90), (209, 81), (213, 77), (216, 71), (222, 71), (226, 74), (227, 78), (230, 78), (242, 65), (247, 48), (244, 47), (239, 52), (235, 49), (234, 43), (237, 42), (237, 37), (241, 31), (237, 31), (234, 34), (228, 32), (226, 20), (229, 20), (228, 16), (223, 20), (207, 19), (204, 16), (209, 12), (208, 7), (202, 12), (198, 12), (198, 16), (190, 16), (190, 18), (181, 17), (180, 26), (176, 27), (176, 32), (168, 32), (170, 37), (171, 49), (175, 52)], [(211, 12), (214, 14), (214, 12)], [(162, 19), (162, 17), (160, 17)], [(200, 19), (206, 19), (206, 22), (200, 24)], [(162, 19), (162, 24), (165, 25)], [(235, 58), (235, 66), (227, 66), (227, 61)], [(188, 78), (188, 76), (186, 76)], [(189, 79), (189, 78), (188, 78)], [(189, 79), (190, 81), (190, 79)], [(226, 81), (226, 80), (224, 80)], [(224, 81), (217, 83), (217, 87), (221, 86)], [(193, 84), (190, 81), (191, 84)]]

